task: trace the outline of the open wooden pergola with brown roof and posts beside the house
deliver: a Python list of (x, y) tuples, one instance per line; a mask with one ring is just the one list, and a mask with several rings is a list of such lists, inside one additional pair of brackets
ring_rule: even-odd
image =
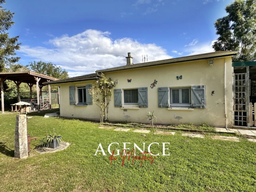
[[(11, 80), (17, 85), (18, 95), (19, 95), (20, 83), (27, 83), (30, 87), (30, 97), (32, 97), (32, 86), (36, 85), (38, 112), (40, 112), (39, 89), (41, 93), (42, 87), (45, 86), (43, 84), (44, 82), (49, 82), (49, 81), (58, 80), (58, 79), (54, 77), (49, 77), (43, 74), (38, 74), (32, 71), (0, 73), (2, 113), (4, 113), (3, 82), (5, 80)], [(50, 100), (50, 109), (51, 109), (51, 86), (48, 85), (48, 88), (49, 88), (49, 100)]]

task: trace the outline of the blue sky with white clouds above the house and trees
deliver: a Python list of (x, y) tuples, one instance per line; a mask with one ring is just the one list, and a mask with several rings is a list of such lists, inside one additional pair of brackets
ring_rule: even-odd
[(134, 63), (211, 52), (214, 22), (231, 0), (6, 0), (15, 13), (19, 63), (52, 62), (70, 77)]

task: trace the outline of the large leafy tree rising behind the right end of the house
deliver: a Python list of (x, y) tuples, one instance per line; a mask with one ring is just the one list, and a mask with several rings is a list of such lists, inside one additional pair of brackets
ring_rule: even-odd
[(256, 60), (256, 0), (235, 0), (226, 6), (227, 16), (214, 23), (220, 35), (215, 51), (238, 51), (234, 62)]

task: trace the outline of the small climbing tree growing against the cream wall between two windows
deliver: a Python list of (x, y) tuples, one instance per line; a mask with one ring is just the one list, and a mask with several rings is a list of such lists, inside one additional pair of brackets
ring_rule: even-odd
[(93, 103), (100, 108), (100, 122), (106, 117), (106, 109), (111, 101), (112, 89), (117, 85), (118, 80), (108, 79), (101, 74), (101, 78), (93, 83), (93, 87), (89, 90)]

